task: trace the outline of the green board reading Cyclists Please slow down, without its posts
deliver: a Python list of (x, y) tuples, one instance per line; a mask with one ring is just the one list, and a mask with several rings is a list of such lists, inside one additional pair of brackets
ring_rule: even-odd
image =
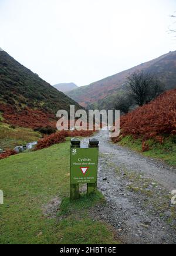
[(70, 184), (96, 183), (98, 159), (98, 148), (71, 148)]

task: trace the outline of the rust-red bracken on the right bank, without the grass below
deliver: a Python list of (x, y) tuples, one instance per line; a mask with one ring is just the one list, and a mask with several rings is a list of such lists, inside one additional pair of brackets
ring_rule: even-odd
[[(113, 141), (132, 135), (134, 139), (155, 139), (163, 143), (164, 136), (173, 136), (176, 130), (176, 89), (163, 93), (153, 102), (138, 107), (120, 119), (120, 136)], [(146, 150), (146, 144), (143, 144)]]

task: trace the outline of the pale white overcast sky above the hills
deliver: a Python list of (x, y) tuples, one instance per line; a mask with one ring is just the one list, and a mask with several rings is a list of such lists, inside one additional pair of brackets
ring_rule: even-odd
[(0, 47), (53, 84), (88, 85), (176, 50), (175, 0), (0, 0)]

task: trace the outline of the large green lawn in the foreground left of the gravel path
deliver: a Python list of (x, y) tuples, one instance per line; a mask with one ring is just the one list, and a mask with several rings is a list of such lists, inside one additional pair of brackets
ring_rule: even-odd
[[(89, 210), (102, 203), (100, 193), (69, 197), (70, 142), (11, 156), (0, 161), (0, 244), (116, 244), (109, 225), (95, 221)], [(63, 199), (60, 213), (43, 213), (53, 198)]]

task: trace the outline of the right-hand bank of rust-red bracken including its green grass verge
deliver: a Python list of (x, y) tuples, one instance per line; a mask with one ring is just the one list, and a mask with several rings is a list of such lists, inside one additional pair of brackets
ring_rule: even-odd
[(176, 164), (176, 89), (169, 90), (151, 103), (138, 107), (120, 119), (120, 136), (113, 142), (148, 156)]

